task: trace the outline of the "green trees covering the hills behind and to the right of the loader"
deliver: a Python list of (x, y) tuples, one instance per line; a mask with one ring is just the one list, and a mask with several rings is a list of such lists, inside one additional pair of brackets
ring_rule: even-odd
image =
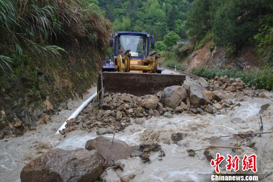
[(209, 43), (211, 49), (224, 47), (226, 56), (231, 59), (240, 56), (245, 45), (251, 45), (263, 63), (273, 58), (273, 3), (270, 0), (93, 2), (105, 12), (114, 30), (154, 34), (159, 41), (156, 44), (159, 51), (177, 40), (189, 39), (187, 48), (174, 47), (178, 57), (186, 57)]

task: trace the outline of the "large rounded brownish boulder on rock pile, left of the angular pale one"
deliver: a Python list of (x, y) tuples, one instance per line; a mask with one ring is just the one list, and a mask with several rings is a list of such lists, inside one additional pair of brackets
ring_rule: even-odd
[(164, 107), (175, 109), (181, 101), (187, 98), (187, 90), (183, 86), (173, 85), (163, 89), (161, 101)]

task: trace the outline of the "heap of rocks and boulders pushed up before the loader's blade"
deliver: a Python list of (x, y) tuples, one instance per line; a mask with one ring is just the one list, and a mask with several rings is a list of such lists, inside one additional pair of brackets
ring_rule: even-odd
[[(209, 85), (205, 79), (201, 80), (203, 85)], [(156, 95), (136, 97), (125, 93), (105, 93), (100, 108), (96, 107), (94, 101), (82, 111), (78, 119), (67, 121), (67, 128), (60, 132), (65, 134), (79, 128), (91, 131), (94, 127), (99, 127), (97, 134), (102, 135), (123, 130), (131, 122), (142, 124), (152, 116), (172, 117), (178, 113), (206, 112), (217, 114), (220, 113), (218, 110), (229, 108), (233, 104), (225, 102), (220, 92), (209, 91), (187, 80), (181, 86), (166, 87)]]

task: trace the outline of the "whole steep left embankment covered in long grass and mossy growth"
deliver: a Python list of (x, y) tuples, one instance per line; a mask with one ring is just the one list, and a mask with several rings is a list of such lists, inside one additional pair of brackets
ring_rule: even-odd
[[(81, 97), (97, 79), (111, 32), (90, 0), (0, 0), (0, 110), (7, 113), (0, 138), (52, 115), (45, 99), (56, 109)], [(12, 127), (17, 117), (20, 129)]]

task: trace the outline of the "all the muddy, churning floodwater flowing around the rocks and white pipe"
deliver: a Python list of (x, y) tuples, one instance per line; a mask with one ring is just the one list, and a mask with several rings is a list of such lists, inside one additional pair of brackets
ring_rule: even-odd
[[(94, 92), (92, 90), (92, 92)], [(89, 95), (91, 95), (91, 93)], [(131, 123), (130, 126), (115, 134), (115, 139), (122, 140), (128, 145), (139, 145), (146, 142), (159, 143), (166, 156), (159, 158), (159, 153), (151, 155), (151, 163), (143, 163), (139, 157), (121, 159), (124, 170), (115, 172), (107, 170), (107, 181), (120, 181), (120, 176), (135, 175), (132, 181), (206, 181), (210, 179), (213, 168), (207, 161), (203, 151), (198, 156), (190, 157), (187, 149), (201, 149), (210, 145), (212, 136), (230, 135), (239, 131), (258, 130), (259, 110), (263, 104), (270, 103), (263, 116), (264, 131), (273, 130), (273, 94), (265, 93), (268, 99), (244, 97), (233, 110), (224, 115), (196, 115), (178, 114), (172, 118), (152, 117), (142, 125)], [(86, 99), (89, 95), (86, 95)], [(54, 135), (56, 130), (72, 113), (82, 100), (70, 101), (69, 108), (53, 117), (53, 122), (38, 126), (37, 130), (27, 132), (20, 138), (4, 139), (0, 141), (0, 181), (20, 181), (22, 167), (33, 159), (52, 148), (71, 150), (83, 147), (89, 139), (96, 138), (96, 130), (86, 133), (81, 130), (69, 132), (66, 138)], [(232, 118), (242, 120), (233, 122)], [(186, 132), (187, 137), (174, 144), (170, 136), (174, 132)], [(105, 134), (110, 138), (112, 134)], [(223, 138), (228, 140), (227, 138)], [(273, 173), (273, 134), (263, 135), (255, 139), (258, 143), (256, 154), (259, 160), (258, 170), (261, 173)], [(244, 149), (246, 150), (246, 149)], [(248, 150), (248, 149), (247, 149)], [(253, 152), (249, 149), (250, 152)], [(254, 151), (255, 152), (255, 151)], [(267, 179), (266, 179), (267, 180)], [(267, 180), (267, 181), (270, 181)]]

